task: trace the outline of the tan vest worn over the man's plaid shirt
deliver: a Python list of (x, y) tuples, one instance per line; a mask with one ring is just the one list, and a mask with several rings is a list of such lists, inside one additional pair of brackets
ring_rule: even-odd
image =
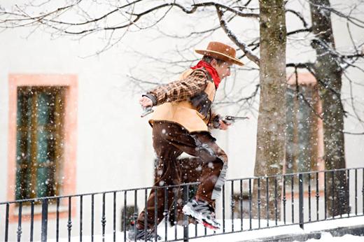
[[(193, 69), (183, 72), (179, 80), (187, 78)], [(166, 102), (155, 108), (153, 116), (149, 123), (153, 127), (155, 121), (176, 122), (185, 127), (188, 131), (208, 131), (207, 123), (211, 116), (211, 104), (214, 101), (216, 88), (214, 81), (209, 73), (207, 87), (200, 94), (191, 97), (189, 101)]]

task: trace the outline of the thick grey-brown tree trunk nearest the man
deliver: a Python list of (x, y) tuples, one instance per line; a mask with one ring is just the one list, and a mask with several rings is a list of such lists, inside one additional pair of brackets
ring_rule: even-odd
[[(255, 176), (281, 174), (286, 137), (286, 19), (283, 0), (260, 0), (260, 105)], [(253, 213), (260, 218), (280, 215), (281, 179), (254, 181)], [(275, 189), (276, 188), (276, 189)], [(276, 197), (275, 197), (276, 190)], [(267, 197), (268, 195), (268, 197)], [(278, 206), (275, 206), (275, 199)], [(268, 205), (268, 207), (267, 207)], [(275, 209), (276, 208), (276, 209)]]

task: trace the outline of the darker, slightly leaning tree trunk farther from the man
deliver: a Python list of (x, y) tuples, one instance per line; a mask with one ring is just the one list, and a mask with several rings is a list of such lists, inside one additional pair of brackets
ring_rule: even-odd
[[(335, 56), (335, 41), (332, 34), (328, 0), (310, 1), (312, 29), (316, 38), (311, 45), (316, 50), (314, 73), (318, 80), (318, 92), (321, 98), (323, 117), (323, 144), (325, 150), (325, 169), (345, 168), (344, 154), (344, 109), (341, 101), (342, 69)], [(346, 173), (326, 174), (328, 187), (328, 214), (347, 213), (348, 196), (346, 194)]]

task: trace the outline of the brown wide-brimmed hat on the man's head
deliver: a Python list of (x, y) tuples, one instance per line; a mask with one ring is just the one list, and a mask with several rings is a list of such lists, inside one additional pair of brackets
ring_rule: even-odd
[(207, 45), (207, 50), (195, 50), (195, 52), (201, 55), (214, 57), (216, 59), (222, 59), (226, 62), (232, 62), (234, 64), (238, 64), (239, 66), (244, 65), (240, 59), (235, 57), (235, 49), (229, 45), (225, 45), (224, 43), (210, 42), (209, 45)]

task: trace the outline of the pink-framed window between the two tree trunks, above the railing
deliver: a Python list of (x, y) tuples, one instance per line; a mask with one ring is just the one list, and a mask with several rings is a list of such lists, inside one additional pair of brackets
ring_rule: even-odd
[[(321, 112), (316, 80), (298, 73), (286, 92), (286, 173), (321, 170), (323, 156)], [(294, 80), (293, 80), (294, 79)]]

